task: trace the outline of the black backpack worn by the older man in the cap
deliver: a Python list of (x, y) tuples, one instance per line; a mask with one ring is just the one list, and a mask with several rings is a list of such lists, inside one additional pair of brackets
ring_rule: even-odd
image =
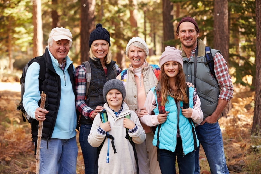
[[(37, 62), (40, 65), (40, 72), (39, 72), (39, 87), (41, 86), (41, 84), (44, 81), (44, 76), (45, 76), (45, 67), (46, 67), (46, 63), (45, 63), (45, 59), (43, 56), (38, 56), (35, 57), (33, 59), (31, 59), (29, 62), (27, 62), (27, 64), (25, 65), (25, 67), (23, 68), (23, 73), (22, 76), (20, 78), (20, 84), (21, 84), (21, 101), (18, 105), (18, 107), (16, 108), (17, 111), (21, 110), (22, 112), (22, 117), (23, 117), (23, 121), (26, 122), (26, 119), (28, 120), (29, 123), (31, 123), (32, 118), (26, 113), (25, 108), (23, 106), (23, 94), (25, 93), (25, 76), (26, 76), (26, 72), (28, 67), (33, 63), (33, 62)], [(26, 119), (25, 119), (26, 118)]]

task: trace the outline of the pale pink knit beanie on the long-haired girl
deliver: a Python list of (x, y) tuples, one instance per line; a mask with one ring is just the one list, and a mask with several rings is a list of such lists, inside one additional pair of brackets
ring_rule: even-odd
[(165, 51), (159, 58), (159, 66), (161, 67), (164, 63), (168, 61), (175, 61), (180, 63), (183, 68), (183, 58), (181, 57), (182, 52), (174, 47), (167, 46)]

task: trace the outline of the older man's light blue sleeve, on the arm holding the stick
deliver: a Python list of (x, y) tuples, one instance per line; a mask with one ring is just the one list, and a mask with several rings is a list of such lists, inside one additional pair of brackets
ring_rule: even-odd
[(23, 95), (23, 106), (27, 114), (35, 119), (35, 110), (38, 108), (38, 102), (41, 99), (39, 91), (39, 72), (40, 65), (33, 62), (27, 69), (25, 78), (25, 93)]

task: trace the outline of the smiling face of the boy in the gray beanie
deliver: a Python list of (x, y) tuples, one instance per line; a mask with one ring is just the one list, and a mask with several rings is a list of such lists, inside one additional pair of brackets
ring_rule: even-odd
[(109, 107), (115, 112), (121, 109), (122, 94), (117, 89), (111, 89), (106, 95), (106, 100)]

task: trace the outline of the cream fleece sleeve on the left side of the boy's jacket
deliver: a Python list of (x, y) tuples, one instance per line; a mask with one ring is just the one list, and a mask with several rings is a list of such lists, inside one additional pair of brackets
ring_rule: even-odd
[(102, 135), (99, 134), (97, 131), (98, 127), (100, 126), (100, 123), (101, 123), (100, 114), (97, 114), (93, 120), (92, 128), (88, 136), (88, 142), (92, 147), (99, 147), (106, 136), (106, 134)]

